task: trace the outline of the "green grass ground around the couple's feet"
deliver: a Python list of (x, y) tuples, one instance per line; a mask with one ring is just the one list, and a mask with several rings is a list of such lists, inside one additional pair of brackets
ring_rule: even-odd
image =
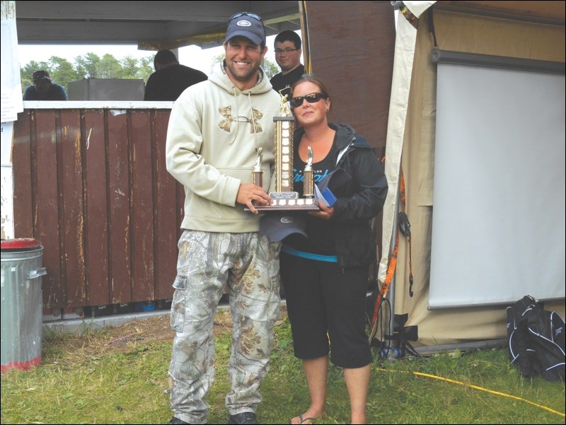
[[(125, 333), (128, 337), (121, 336)], [(46, 335), (40, 366), (2, 374), (1, 423), (165, 424), (172, 416), (171, 340), (138, 334), (143, 329), (130, 327), (82, 337)], [(287, 423), (309, 404), (286, 319), (276, 327), (276, 336), (257, 412), (263, 424)], [(210, 424), (225, 424), (228, 415), (229, 344), (228, 325), (216, 337), (216, 382), (207, 399)], [(509, 365), (506, 349), (376, 360), (368, 400), (370, 424), (565, 424), (564, 412), (565, 384), (523, 378)], [(342, 373), (331, 366), (326, 414), (316, 423), (349, 421)]]

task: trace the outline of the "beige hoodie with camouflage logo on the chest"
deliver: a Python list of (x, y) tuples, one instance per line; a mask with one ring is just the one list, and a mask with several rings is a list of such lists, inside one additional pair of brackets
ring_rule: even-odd
[(240, 183), (252, 182), (262, 147), (263, 188), (273, 173), (274, 122), (280, 97), (260, 69), (245, 91), (233, 85), (223, 64), (175, 101), (166, 141), (167, 170), (185, 187), (181, 228), (207, 232), (255, 232), (260, 215), (236, 204)]

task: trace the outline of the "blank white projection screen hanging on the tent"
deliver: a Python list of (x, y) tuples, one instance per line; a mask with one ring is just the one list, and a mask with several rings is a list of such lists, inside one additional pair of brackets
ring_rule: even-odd
[(429, 308), (564, 298), (564, 74), (437, 78)]

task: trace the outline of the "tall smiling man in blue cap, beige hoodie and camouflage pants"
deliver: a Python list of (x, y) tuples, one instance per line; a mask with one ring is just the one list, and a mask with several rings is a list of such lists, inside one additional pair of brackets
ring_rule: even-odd
[[(279, 318), (279, 248), (259, 233), (255, 205), (272, 202), (273, 117), (281, 101), (260, 68), (267, 47), (255, 13), (228, 21), (226, 59), (171, 110), (167, 170), (185, 187), (173, 282), (169, 424), (205, 424), (214, 381), (214, 315), (225, 287), (233, 318), (229, 424), (258, 424), (255, 409)], [(252, 170), (260, 167), (262, 183)], [(246, 211), (248, 209), (249, 211)]]

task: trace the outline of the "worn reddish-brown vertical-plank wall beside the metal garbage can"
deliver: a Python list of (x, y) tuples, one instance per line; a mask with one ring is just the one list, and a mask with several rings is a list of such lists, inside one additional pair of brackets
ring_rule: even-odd
[(44, 308), (171, 298), (183, 190), (170, 109), (26, 109), (13, 139), (16, 238), (44, 247)]

